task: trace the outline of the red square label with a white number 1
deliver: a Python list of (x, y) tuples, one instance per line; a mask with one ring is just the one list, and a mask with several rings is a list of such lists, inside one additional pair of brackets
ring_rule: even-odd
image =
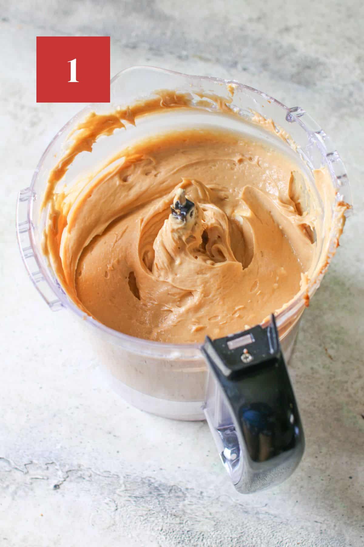
[(110, 102), (110, 36), (37, 36), (37, 102)]

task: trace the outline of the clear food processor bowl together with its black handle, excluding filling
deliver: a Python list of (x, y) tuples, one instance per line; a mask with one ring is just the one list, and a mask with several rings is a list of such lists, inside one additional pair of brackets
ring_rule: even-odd
[[(92, 152), (75, 155), (58, 183), (72, 187), (95, 172), (106, 157), (158, 132), (214, 127), (258, 138), (295, 158), (317, 199), (313, 171), (326, 167), (332, 192), (325, 195), (322, 226), (315, 244), (319, 265), (289, 304), (261, 325), (204, 344), (167, 344), (138, 339), (106, 327), (69, 298), (43, 253), (46, 210), (41, 203), (51, 170), (67, 158), (69, 135), (88, 114), (109, 113), (168, 89), (189, 95), (186, 109), (158, 110), (100, 137)], [(203, 97), (203, 100), (201, 100)], [(217, 100), (218, 98), (218, 100)], [(225, 104), (220, 109), (218, 104)], [(272, 131), (250, 123), (256, 115), (273, 120)], [(278, 134), (284, 132), (285, 138)], [(176, 420), (207, 419), (233, 484), (255, 492), (286, 479), (300, 462), (305, 440), (287, 367), (303, 311), (335, 254), (343, 220), (350, 212), (347, 173), (326, 133), (300, 107), (288, 108), (265, 93), (235, 81), (191, 76), (154, 67), (132, 67), (111, 80), (111, 105), (91, 104), (75, 115), (51, 141), (31, 184), (20, 191), (16, 228), (31, 280), (52, 311), (70, 310), (89, 331), (105, 374), (122, 398), (141, 410)], [(325, 218), (324, 218), (325, 217)]]

